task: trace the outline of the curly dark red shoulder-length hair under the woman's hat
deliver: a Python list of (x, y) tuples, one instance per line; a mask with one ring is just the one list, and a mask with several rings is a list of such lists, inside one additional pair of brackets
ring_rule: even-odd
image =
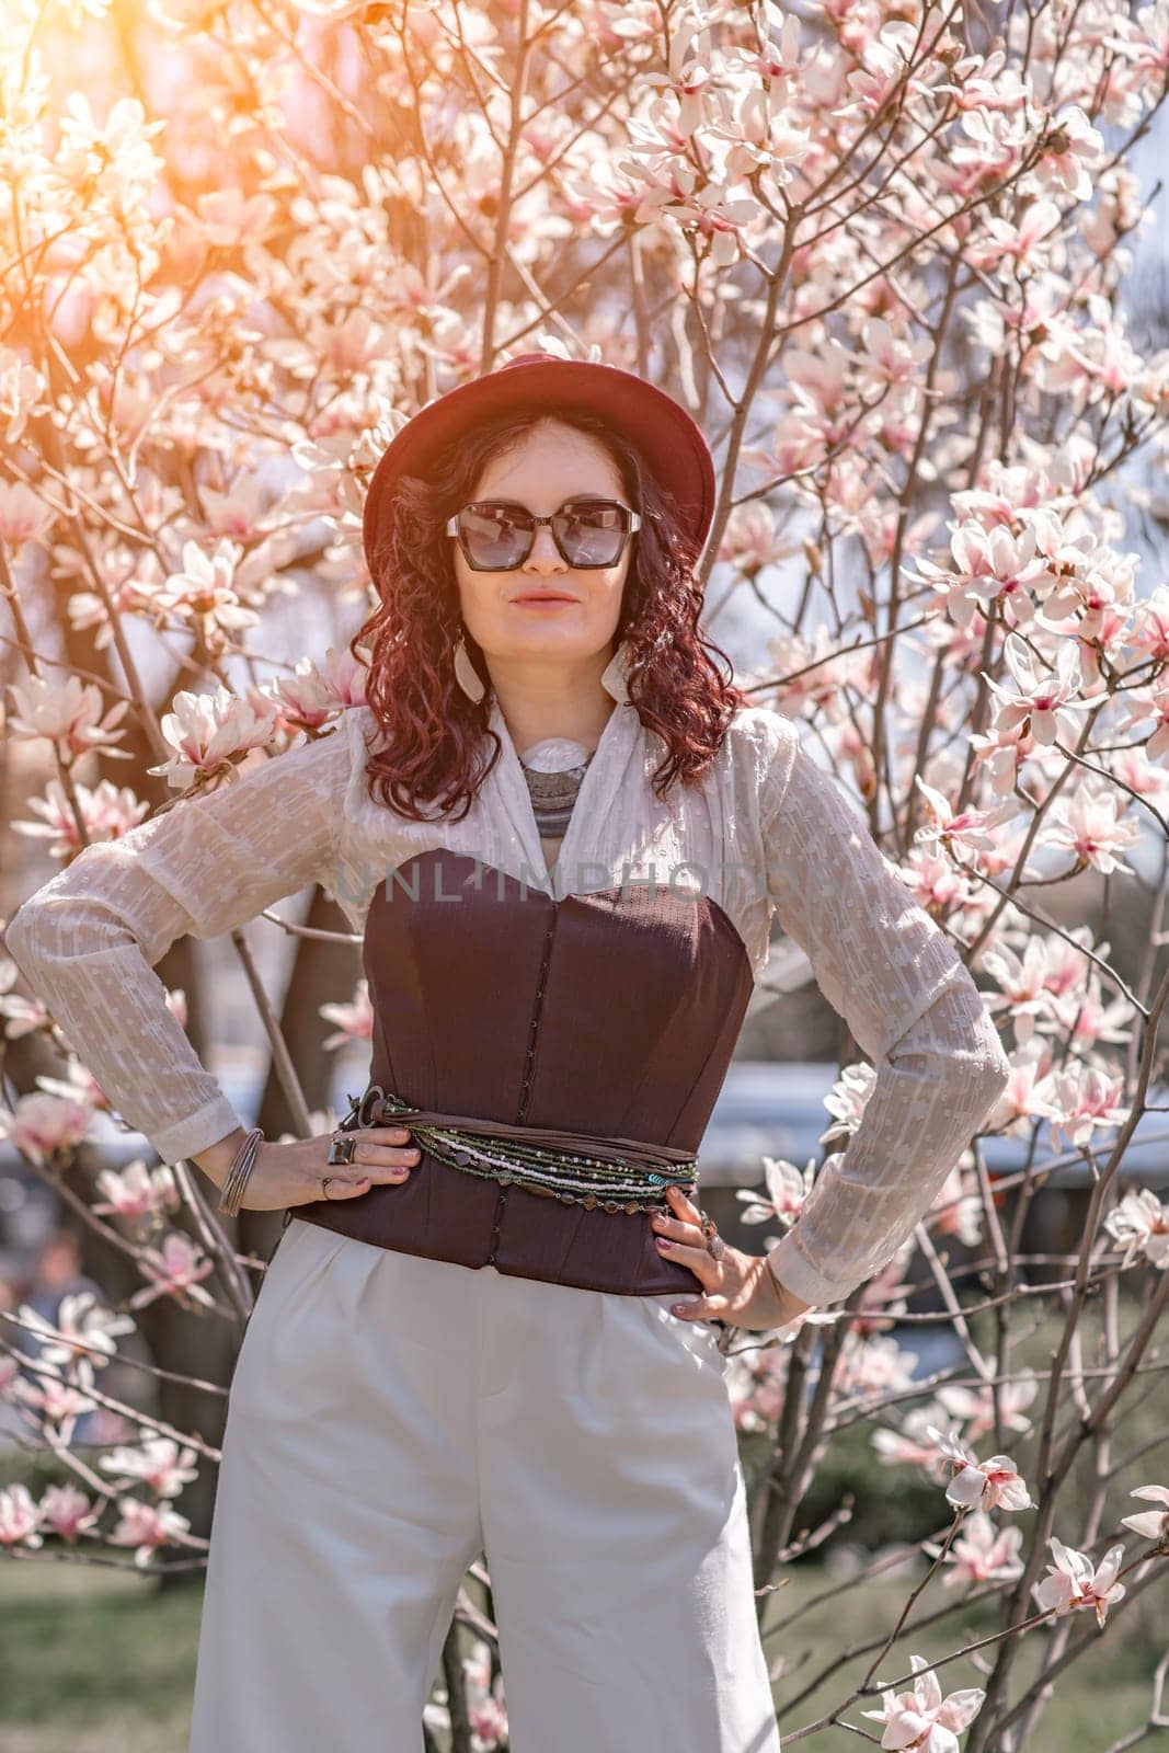
[[(692, 784), (706, 771), (747, 696), (724, 680), (715, 657), (731, 661), (699, 631), (703, 589), (698, 556), (684, 536), (671, 494), (647, 468), (640, 451), (603, 421), (575, 410), (515, 407), (484, 421), (436, 458), (426, 480), (403, 475), (373, 552), (379, 607), (349, 642), (368, 661), (366, 703), (382, 731), (366, 761), (368, 792), (412, 820), (459, 813), (461, 820), (501, 754), (489, 727), (491, 678), (484, 654), (463, 628), (447, 519), (475, 498), (489, 458), (507, 451), (540, 421), (556, 419), (599, 440), (624, 482), (627, 503), (641, 514), (622, 591), (617, 643), (629, 642), (626, 685), (641, 724), (659, 733), (666, 756), (654, 771), (659, 798), (675, 778)], [(468, 656), (487, 684), (473, 701), (454, 673), (454, 645), (463, 633)], [(358, 645), (368, 645), (368, 659)], [(489, 757), (484, 750), (494, 743)]]

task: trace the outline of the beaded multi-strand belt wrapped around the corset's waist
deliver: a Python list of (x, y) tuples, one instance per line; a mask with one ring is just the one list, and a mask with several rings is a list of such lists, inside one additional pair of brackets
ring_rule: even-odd
[(698, 1185), (698, 1159), (671, 1145), (645, 1145), (633, 1138), (592, 1138), (545, 1125), (507, 1125), (471, 1115), (414, 1108), (400, 1096), (370, 1085), (351, 1096), (351, 1108), (338, 1131), (401, 1120), (419, 1146), (452, 1169), (515, 1182), (542, 1199), (582, 1204), (603, 1211), (661, 1211), (666, 1189), (687, 1192)]

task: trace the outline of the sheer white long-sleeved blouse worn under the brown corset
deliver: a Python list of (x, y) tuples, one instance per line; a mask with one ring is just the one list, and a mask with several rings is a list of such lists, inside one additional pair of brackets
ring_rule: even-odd
[(931, 1208), (995, 1104), (1010, 1061), (952, 940), (918, 906), (796, 724), (743, 706), (708, 773), (662, 803), (664, 743), (615, 706), (547, 871), (528, 784), (492, 698), (501, 756), (461, 822), (412, 822), (368, 798), (377, 720), (335, 726), (219, 791), (98, 841), (9, 920), (5, 945), (124, 1122), (165, 1162), (244, 1122), (165, 1003), (154, 964), (184, 933), (214, 938), (319, 882), (361, 934), (373, 889), (438, 847), (547, 894), (626, 882), (708, 894), (755, 978), (773, 913), (876, 1068), (861, 1124), (820, 1167), (799, 1220), (771, 1250), (806, 1302), (880, 1271)]

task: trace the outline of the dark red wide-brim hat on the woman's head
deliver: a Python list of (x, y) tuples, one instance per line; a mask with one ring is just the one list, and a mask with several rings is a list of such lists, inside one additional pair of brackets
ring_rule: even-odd
[(436, 452), (475, 421), (519, 403), (550, 414), (580, 408), (608, 421), (641, 451), (645, 463), (677, 505), (684, 535), (701, 554), (715, 515), (715, 465), (701, 426), (685, 408), (634, 372), (592, 359), (559, 359), (552, 352), (521, 352), (515, 359), (428, 401), (394, 433), (370, 479), (365, 501), (365, 557), (373, 571), (377, 536), (400, 475), (426, 480)]

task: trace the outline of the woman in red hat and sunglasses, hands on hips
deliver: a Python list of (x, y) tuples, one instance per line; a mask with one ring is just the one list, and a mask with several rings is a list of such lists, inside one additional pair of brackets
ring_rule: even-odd
[[(193, 1753), (419, 1748), (480, 1553), (514, 1753), (778, 1753), (705, 1324), (785, 1327), (880, 1269), (1008, 1064), (794, 724), (715, 668), (712, 515), (699, 429), (631, 373), (528, 354), (438, 398), (366, 500), (366, 703), (9, 927), (159, 1155), (287, 1213), (231, 1385)], [(275, 1145), (149, 969), (312, 880), (363, 934), (370, 1087)], [(755, 1257), (694, 1153), (773, 912), (878, 1078)]]

